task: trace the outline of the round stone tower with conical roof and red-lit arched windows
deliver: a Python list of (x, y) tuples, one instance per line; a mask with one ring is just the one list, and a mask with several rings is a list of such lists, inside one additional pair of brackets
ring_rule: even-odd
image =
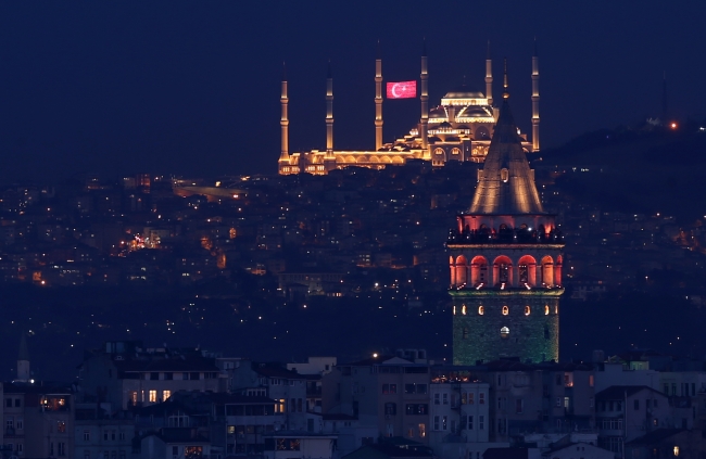
[(501, 357), (558, 360), (564, 242), (534, 184), (510, 113), (503, 103), (478, 187), (457, 217), (451, 253), (454, 364)]

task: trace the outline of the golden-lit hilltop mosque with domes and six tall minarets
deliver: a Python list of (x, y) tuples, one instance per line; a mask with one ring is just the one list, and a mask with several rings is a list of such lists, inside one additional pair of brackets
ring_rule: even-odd
[[(520, 135), (525, 152), (540, 150), (539, 116), (539, 59), (537, 48), (532, 55), (532, 138)], [(465, 85), (449, 91), (441, 103), (429, 110), (429, 74), (426, 47), (421, 52), (419, 76), (419, 100), (421, 116), (417, 126), (393, 143), (382, 142), (382, 60), (378, 47), (375, 61), (375, 150), (340, 151), (333, 148), (333, 78), (330, 72), (326, 78), (326, 149), (307, 152), (289, 151), (289, 116), (287, 76), (281, 82), (281, 152), (278, 169), (281, 175), (308, 173), (325, 175), (329, 170), (357, 166), (381, 169), (389, 164), (404, 164), (408, 160), (430, 161), (433, 166), (446, 162), (482, 163), (488, 154), (491, 137), (499, 118), (499, 109), (493, 105), (493, 74), (490, 44), (486, 59), (486, 93)], [(416, 85), (416, 81), (414, 82)], [(415, 94), (416, 97), (416, 94)], [(519, 133), (519, 130), (518, 130)]]

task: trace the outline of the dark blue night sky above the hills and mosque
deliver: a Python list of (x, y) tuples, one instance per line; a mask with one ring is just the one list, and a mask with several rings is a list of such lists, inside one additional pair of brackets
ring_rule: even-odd
[[(706, 116), (706, 3), (163, 1), (0, 4), (0, 180), (84, 171), (187, 176), (274, 173), (287, 61), (292, 150), (325, 145), (325, 75), (335, 76), (336, 146), (374, 143), (375, 43), (387, 80), (419, 75), (430, 102), (463, 81), (495, 97), (507, 56), (515, 117), (529, 125), (537, 36), (543, 146), (669, 107)], [(384, 104), (384, 138), (418, 101)]]

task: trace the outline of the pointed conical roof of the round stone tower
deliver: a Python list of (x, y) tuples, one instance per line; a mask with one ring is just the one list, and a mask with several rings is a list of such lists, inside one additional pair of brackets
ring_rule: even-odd
[(476, 188), (471, 214), (543, 214), (534, 174), (522, 150), (507, 91)]

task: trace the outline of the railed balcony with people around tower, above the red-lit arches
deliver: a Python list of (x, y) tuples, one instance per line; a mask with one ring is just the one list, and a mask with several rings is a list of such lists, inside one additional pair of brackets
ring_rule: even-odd
[(446, 244), (563, 244), (564, 234), (557, 229), (550, 232), (530, 231), (526, 228), (503, 228), (497, 231), (488, 228), (449, 231)]

